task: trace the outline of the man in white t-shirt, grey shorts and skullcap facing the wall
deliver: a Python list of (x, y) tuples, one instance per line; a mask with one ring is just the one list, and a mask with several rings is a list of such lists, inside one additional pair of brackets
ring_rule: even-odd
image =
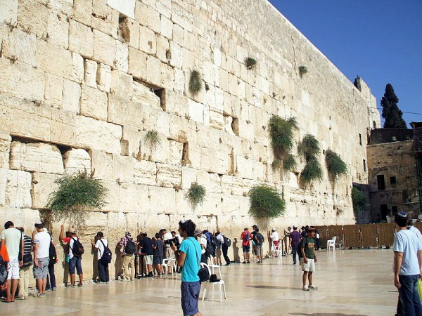
[(42, 298), (46, 296), (51, 237), (40, 221), (35, 223), (35, 230), (37, 234), (34, 236), (34, 278), (37, 280), (37, 297)]

